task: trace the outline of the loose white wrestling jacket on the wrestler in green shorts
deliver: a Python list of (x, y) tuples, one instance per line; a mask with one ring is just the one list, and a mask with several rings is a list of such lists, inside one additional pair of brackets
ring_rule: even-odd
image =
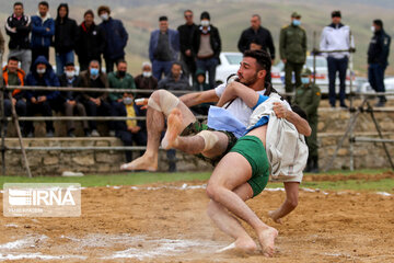
[(254, 110), (247, 129), (253, 128), (262, 117), (269, 116), (266, 152), (270, 174), (274, 180), (286, 178), (283, 181), (301, 182), (309, 152), (305, 138), (292, 123), (277, 118), (273, 110), (274, 102), (283, 103), (277, 93), (271, 93), (269, 99)]

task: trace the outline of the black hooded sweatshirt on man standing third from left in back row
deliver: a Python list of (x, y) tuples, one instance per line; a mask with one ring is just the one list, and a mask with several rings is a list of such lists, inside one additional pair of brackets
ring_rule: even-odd
[[(59, 10), (66, 8), (67, 14), (60, 19)], [(77, 39), (77, 22), (69, 19), (69, 8), (67, 3), (60, 3), (55, 21), (55, 50), (56, 53), (68, 53), (74, 49)]]

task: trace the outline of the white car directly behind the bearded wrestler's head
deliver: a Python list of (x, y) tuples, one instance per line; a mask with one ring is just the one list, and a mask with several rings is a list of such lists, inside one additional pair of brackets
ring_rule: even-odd
[[(228, 77), (236, 73), (236, 71), (240, 69), (240, 64), (242, 59), (242, 53), (221, 53), (221, 65), (219, 65), (216, 69), (216, 82), (218, 84), (225, 83)], [(271, 68), (271, 80), (274, 85), (282, 85), (282, 82), (280, 80), (280, 69), (276, 68), (275, 66), (273, 66)]]

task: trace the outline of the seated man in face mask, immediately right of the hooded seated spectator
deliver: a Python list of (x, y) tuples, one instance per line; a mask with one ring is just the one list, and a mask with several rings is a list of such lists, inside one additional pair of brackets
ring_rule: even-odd
[[(59, 77), (60, 87), (72, 88), (78, 87), (80, 77), (76, 75), (76, 67), (73, 62), (66, 64), (65, 73)], [(63, 111), (66, 116), (86, 116), (84, 105), (80, 102), (80, 92), (76, 91), (62, 91), (60, 93), (62, 98)], [(82, 121), (83, 130), (85, 136), (90, 136), (88, 121)], [(76, 137), (74, 135), (76, 125), (73, 121), (67, 122), (67, 136)]]

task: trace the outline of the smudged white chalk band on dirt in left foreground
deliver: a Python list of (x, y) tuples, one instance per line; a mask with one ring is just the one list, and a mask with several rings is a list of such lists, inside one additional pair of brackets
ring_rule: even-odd
[(46, 236), (31, 236), (19, 239), (4, 244), (0, 244), (0, 261), (15, 260), (66, 260), (80, 259), (85, 260), (90, 256), (81, 254), (81, 250), (90, 253), (90, 249), (96, 248), (114, 248), (119, 244), (126, 245), (127, 249), (120, 251), (112, 251), (108, 254), (101, 255), (101, 260), (115, 259), (152, 259), (158, 256), (182, 256), (185, 253), (197, 253), (200, 255), (212, 254), (227, 243), (216, 242), (211, 240), (187, 240), (187, 239), (153, 239), (148, 236), (129, 236), (129, 235), (102, 235), (89, 233), (83, 238), (60, 236), (69, 242), (61, 242), (58, 248), (53, 244), (51, 249), (60, 251), (69, 251), (73, 254), (51, 255), (42, 252), (25, 252), (26, 249), (34, 248), (40, 242), (39, 248), (46, 248), (45, 243), (49, 240)]

